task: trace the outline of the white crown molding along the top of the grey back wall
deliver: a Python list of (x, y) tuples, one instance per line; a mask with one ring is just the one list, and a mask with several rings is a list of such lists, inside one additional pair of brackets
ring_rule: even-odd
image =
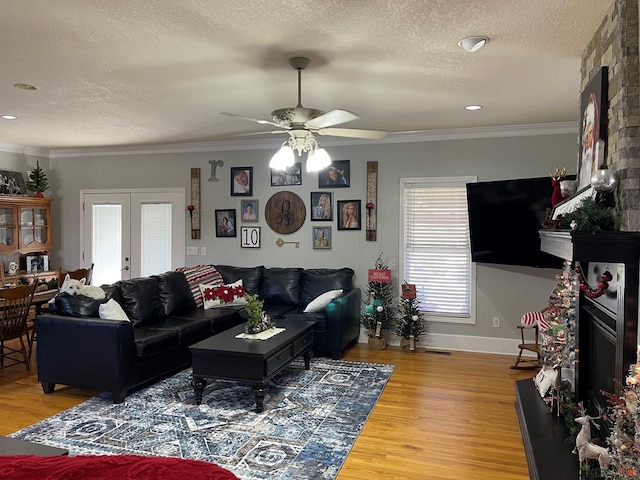
[[(442, 130), (422, 130), (409, 132), (391, 132), (380, 140), (358, 138), (321, 137), (323, 146), (351, 146), (371, 144), (394, 144), (435, 142), (442, 140), (468, 140), (478, 138), (524, 137), (539, 135), (577, 134), (577, 122), (540, 123), (532, 125), (512, 125), (500, 127), (452, 128)], [(284, 133), (284, 132), (283, 132)], [(80, 147), (42, 149), (17, 147), (0, 144), (0, 151), (24, 153), (47, 158), (95, 157), (113, 155), (151, 155), (163, 153), (203, 153), (236, 150), (268, 150), (278, 148), (280, 138), (251, 140), (221, 140), (214, 142), (174, 143), (157, 145), (124, 145), (114, 147)]]

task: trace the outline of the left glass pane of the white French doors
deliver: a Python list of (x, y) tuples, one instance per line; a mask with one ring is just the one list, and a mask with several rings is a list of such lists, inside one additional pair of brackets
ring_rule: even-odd
[(93, 205), (93, 285), (120, 280), (122, 258), (122, 206)]

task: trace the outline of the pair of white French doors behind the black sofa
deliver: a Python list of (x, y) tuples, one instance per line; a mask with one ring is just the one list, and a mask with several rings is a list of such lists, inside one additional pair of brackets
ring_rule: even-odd
[(92, 284), (184, 265), (184, 189), (83, 190), (80, 197), (80, 262), (94, 264)]

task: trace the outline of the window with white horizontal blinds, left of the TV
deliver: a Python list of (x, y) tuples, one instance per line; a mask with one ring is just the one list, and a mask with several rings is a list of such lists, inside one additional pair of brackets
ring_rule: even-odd
[(476, 323), (465, 186), (475, 181), (475, 177), (400, 181), (400, 278), (416, 285), (421, 309), (430, 321)]

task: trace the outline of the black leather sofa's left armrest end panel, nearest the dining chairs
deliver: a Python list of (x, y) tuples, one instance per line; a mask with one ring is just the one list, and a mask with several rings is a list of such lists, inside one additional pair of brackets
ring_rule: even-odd
[(36, 317), (36, 331), (43, 388), (60, 383), (120, 392), (133, 383), (131, 322), (45, 314)]

